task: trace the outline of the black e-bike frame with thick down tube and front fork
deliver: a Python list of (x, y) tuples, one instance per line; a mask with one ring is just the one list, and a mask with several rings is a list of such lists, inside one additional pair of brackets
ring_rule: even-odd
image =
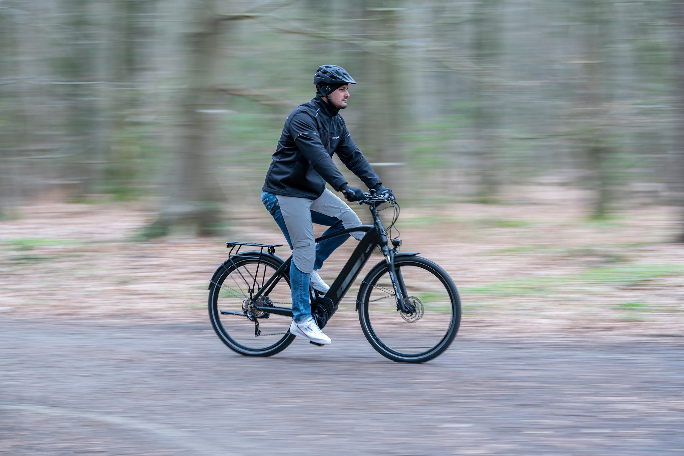
[[(378, 209), (376, 207), (376, 202), (371, 202), (369, 203), (370, 209), (371, 209), (371, 215), (373, 215), (373, 225), (362, 225), (362, 226), (356, 226), (354, 228), (347, 228), (345, 230), (341, 230), (339, 232), (335, 232), (332, 234), (327, 234), (326, 236), (321, 236), (316, 239), (316, 242), (320, 241), (325, 241), (326, 239), (332, 239), (334, 237), (339, 237), (343, 236), (344, 234), (349, 234), (350, 232), (357, 232), (357, 231), (365, 231), (367, 234), (363, 237), (358, 242), (358, 245), (356, 245), (356, 248), (354, 249), (354, 252), (352, 253), (352, 256), (350, 256), (349, 260), (347, 260), (347, 263), (344, 265), (342, 268), (342, 271), (340, 271), (339, 275), (335, 279), (335, 281), (332, 283), (330, 286), (330, 289), (324, 296), (319, 296), (316, 297), (313, 301), (312, 304), (314, 305), (319, 305), (323, 306), (326, 309), (326, 320), (332, 317), (332, 314), (337, 310), (339, 307), (339, 303), (344, 297), (344, 295), (349, 291), (350, 286), (352, 286), (352, 283), (354, 283), (354, 280), (356, 279), (356, 276), (358, 276), (358, 273), (363, 269), (365, 264), (368, 261), (368, 258), (370, 258), (371, 253), (373, 252), (373, 249), (380, 246), (380, 250), (385, 257), (386, 262), (390, 265), (390, 278), (392, 280), (394, 292), (395, 292), (395, 299), (397, 301), (397, 308), (399, 310), (402, 310), (402, 312), (411, 312), (410, 309), (406, 307), (406, 304), (404, 303), (403, 296), (408, 296), (408, 293), (406, 292), (406, 286), (404, 285), (404, 280), (401, 275), (401, 271), (396, 271), (395, 272), (395, 267), (394, 267), (394, 256), (395, 256), (395, 250), (389, 248), (389, 243), (387, 241), (387, 235), (384, 230), (384, 226), (382, 226), (382, 222), (380, 221), (380, 216), (378, 215)], [(287, 271), (287, 268), (290, 266), (292, 262), (292, 256), (287, 258), (280, 267), (278, 267), (278, 270), (269, 278), (269, 280), (263, 284), (261, 289), (257, 291), (257, 293), (252, 297), (252, 301), (257, 301), (257, 299), (265, 294), (268, 295), (274, 289), (276, 284), (278, 284), (278, 281), (282, 277), (283, 273)], [(262, 306), (254, 306), (257, 310), (261, 310), (263, 312), (269, 312), (273, 314), (279, 314), (279, 315), (285, 315), (287, 317), (292, 317), (292, 310), (287, 308), (287, 307), (262, 307)], [(312, 311), (313, 311), (313, 306), (312, 306)]]

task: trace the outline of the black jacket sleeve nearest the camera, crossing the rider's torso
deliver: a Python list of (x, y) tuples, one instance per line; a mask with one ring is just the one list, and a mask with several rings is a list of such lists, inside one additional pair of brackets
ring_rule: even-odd
[(337, 190), (347, 183), (347, 179), (337, 169), (337, 165), (324, 148), (315, 122), (308, 113), (298, 112), (293, 116), (289, 124), (289, 133), (306, 161), (333, 189)]

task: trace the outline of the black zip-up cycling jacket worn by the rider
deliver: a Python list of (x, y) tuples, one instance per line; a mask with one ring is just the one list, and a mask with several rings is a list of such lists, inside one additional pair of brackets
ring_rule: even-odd
[(354, 144), (339, 110), (316, 96), (287, 116), (263, 191), (315, 200), (326, 181), (338, 190), (347, 180), (332, 161), (334, 153), (369, 188), (382, 183)]

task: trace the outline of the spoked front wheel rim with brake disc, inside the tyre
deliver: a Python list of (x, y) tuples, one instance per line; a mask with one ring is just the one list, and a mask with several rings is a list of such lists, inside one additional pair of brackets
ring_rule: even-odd
[(397, 263), (397, 267), (417, 312), (406, 315), (397, 311), (389, 273), (380, 271), (365, 295), (367, 330), (380, 349), (395, 357), (428, 356), (448, 343), (458, 321), (458, 297), (428, 265), (411, 262)]

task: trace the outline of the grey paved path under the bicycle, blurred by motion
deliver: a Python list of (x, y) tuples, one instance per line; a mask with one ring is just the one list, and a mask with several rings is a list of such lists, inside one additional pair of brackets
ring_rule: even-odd
[(684, 454), (684, 343), (460, 334), (395, 364), (358, 327), (237, 356), (208, 323), (0, 321), (0, 454)]

